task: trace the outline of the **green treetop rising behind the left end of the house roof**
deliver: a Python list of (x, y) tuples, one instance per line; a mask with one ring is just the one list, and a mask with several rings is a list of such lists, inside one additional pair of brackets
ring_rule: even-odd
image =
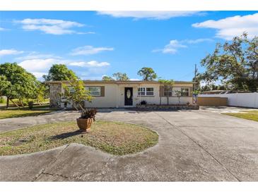
[(73, 70), (69, 70), (65, 64), (54, 64), (48, 72), (48, 75), (43, 75), (45, 81), (54, 80), (73, 80), (76, 74)]

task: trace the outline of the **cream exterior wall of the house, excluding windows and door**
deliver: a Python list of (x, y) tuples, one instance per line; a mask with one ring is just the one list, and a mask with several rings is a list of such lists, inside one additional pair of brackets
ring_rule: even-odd
[[(67, 83), (66, 83), (67, 85)], [(139, 104), (141, 101), (146, 101), (147, 104), (160, 104), (160, 84), (158, 82), (86, 82), (85, 86), (99, 86), (104, 87), (105, 96), (103, 97), (94, 97), (93, 101), (89, 103), (85, 101), (86, 107), (96, 107), (96, 108), (119, 108), (119, 107), (135, 107), (136, 104)], [(132, 87), (133, 88), (133, 105), (124, 106), (124, 88)], [(139, 96), (138, 88), (139, 87), (153, 87), (153, 96)], [(189, 87), (189, 97), (180, 97), (180, 104), (187, 104), (189, 102), (192, 104), (192, 84), (175, 84), (173, 85), (173, 91), (181, 90), (181, 87)], [(52, 107), (64, 108), (65, 99), (61, 99), (58, 92), (63, 92), (64, 89), (61, 88), (61, 83), (50, 84), (50, 103)], [(179, 104), (178, 98), (176, 96), (169, 97), (169, 104)], [(161, 104), (167, 104), (167, 97), (161, 97)], [(72, 104), (67, 104), (67, 108), (71, 108)]]

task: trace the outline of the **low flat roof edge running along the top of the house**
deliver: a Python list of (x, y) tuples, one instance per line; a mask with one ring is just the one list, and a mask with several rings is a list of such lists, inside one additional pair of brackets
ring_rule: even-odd
[[(57, 81), (47, 81), (47, 84), (54, 84), (54, 83), (69, 83), (69, 80), (57, 80)], [(107, 84), (160, 84), (160, 82), (153, 80), (153, 81), (143, 81), (143, 80), (126, 80), (126, 81), (120, 81), (120, 80), (83, 80), (84, 83), (107, 83)], [(175, 84), (194, 84), (196, 82), (191, 81), (175, 81)]]

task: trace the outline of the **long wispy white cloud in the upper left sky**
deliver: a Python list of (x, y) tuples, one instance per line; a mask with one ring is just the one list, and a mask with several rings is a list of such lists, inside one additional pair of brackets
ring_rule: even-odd
[(79, 33), (71, 30), (72, 27), (83, 27), (81, 23), (69, 20), (52, 20), (52, 19), (31, 19), (16, 20), (15, 23), (20, 23), (24, 30), (40, 30), (46, 34), (64, 35)]

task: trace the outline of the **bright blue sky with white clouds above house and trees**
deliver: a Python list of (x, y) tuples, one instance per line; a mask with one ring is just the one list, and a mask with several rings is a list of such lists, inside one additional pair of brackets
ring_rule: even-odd
[[(83, 80), (153, 68), (192, 80), (194, 63), (243, 31), (258, 35), (258, 11), (1, 11), (0, 63), (17, 62), (38, 79), (65, 63)], [(200, 66), (199, 71), (204, 69)]]

